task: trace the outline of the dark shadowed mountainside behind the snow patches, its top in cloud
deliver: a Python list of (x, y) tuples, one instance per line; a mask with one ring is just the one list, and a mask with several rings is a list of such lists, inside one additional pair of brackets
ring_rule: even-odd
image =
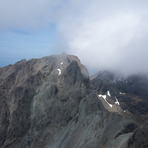
[(131, 114), (138, 122), (148, 120), (148, 77), (144, 75), (132, 75), (122, 77), (114, 73), (103, 71), (91, 79), (92, 88), (98, 94), (107, 94), (110, 103), (116, 99), (124, 112)]

